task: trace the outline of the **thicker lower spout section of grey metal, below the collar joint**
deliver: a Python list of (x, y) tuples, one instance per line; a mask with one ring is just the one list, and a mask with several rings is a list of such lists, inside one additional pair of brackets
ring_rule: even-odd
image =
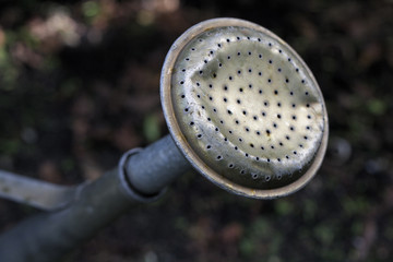
[(0, 261), (59, 261), (131, 204), (117, 170), (108, 172), (83, 187), (67, 209), (33, 216), (3, 233)]

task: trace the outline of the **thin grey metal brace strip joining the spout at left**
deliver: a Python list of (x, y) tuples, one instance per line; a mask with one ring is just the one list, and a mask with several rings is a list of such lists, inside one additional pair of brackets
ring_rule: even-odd
[(59, 186), (0, 170), (0, 198), (39, 210), (62, 209), (69, 204), (78, 187)]

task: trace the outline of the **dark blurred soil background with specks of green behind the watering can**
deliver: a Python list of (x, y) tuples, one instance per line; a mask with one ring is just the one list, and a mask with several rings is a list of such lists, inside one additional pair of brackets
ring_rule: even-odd
[[(331, 128), (318, 176), (255, 201), (187, 174), (64, 261), (393, 261), (391, 0), (1, 1), (0, 168), (75, 184), (167, 134), (165, 55), (219, 16), (267, 27), (313, 71)], [(0, 231), (35, 213), (0, 200)]]

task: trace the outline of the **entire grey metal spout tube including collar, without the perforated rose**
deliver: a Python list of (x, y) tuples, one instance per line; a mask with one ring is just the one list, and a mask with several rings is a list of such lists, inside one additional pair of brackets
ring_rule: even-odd
[(126, 153), (119, 168), (81, 184), (67, 207), (27, 218), (2, 234), (0, 261), (58, 261), (133, 203), (160, 196), (189, 167), (169, 135), (141, 152)]

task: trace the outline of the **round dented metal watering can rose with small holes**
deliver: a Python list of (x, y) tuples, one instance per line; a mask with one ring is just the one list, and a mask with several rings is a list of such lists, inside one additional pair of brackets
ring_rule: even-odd
[(166, 57), (160, 93), (186, 158), (230, 192), (286, 195), (321, 165), (329, 128), (318, 83), (299, 55), (257, 24), (215, 19), (188, 29)]

